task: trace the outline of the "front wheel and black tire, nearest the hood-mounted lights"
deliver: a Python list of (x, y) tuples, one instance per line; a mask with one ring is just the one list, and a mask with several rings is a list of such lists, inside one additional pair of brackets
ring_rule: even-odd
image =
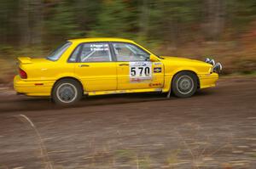
[(189, 98), (197, 90), (197, 76), (189, 71), (177, 73), (172, 80), (172, 93), (178, 98)]

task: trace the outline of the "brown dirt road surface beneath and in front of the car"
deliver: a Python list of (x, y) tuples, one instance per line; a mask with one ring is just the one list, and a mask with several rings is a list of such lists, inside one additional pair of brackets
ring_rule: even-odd
[(0, 96), (0, 169), (256, 168), (255, 77), (189, 99), (122, 94), (63, 108)]

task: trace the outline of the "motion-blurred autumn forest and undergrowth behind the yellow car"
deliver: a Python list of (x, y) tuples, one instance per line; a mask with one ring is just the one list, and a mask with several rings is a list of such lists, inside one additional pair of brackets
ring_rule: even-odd
[(15, 58), (43, 57), (77, 37), (125, 37), (160, 55), (256, 70), (255, 0), (0, 0), (0, 83)]

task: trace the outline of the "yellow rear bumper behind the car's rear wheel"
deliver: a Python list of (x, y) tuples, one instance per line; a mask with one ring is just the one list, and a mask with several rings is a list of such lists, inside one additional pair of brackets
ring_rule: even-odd
[(20, 76), (14, 79), (15, 91), (27, 96), (50, 96), (53, 85), (51, 81), (24, 81)]

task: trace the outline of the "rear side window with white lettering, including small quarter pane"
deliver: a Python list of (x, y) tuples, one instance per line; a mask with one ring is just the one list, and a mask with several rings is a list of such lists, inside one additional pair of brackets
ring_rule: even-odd
[(75, 49), (69, 61), (74, 62), (109, 62), (112, 61), (108, 43), (84, 43)]

